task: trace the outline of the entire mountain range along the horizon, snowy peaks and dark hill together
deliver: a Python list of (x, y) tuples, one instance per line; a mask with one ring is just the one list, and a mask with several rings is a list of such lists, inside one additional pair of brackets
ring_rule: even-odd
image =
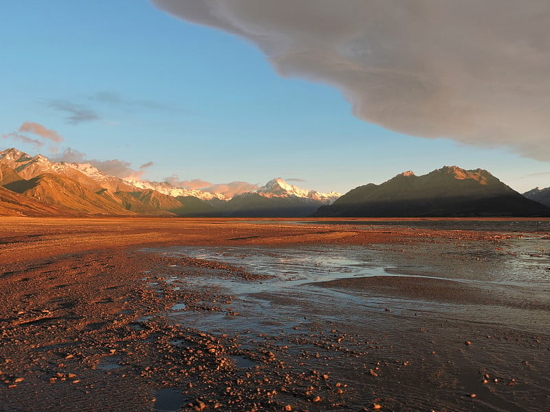
[[(541, 204), (542, 203), (542, 204)], [(487, 170), (445, 166), (423, 176), (398, 174), (343, 196), (272, 179), (254, 192), (221, 193), (129, 181), (89, 163), (0, 152), (0, 215), (186, 217), (550, 216), (550, 188), (522, 196)]]

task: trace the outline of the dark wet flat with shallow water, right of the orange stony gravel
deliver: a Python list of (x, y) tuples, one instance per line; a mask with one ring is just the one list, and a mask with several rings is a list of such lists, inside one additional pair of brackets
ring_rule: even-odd
[[(148, 251), (267, 276), (244, 280), (230, 266), (217, 271), (184, 266), (182, 259), (156, 286), (215, 290), (204, 299), (217, 299), (218, 310), (188, 305), (167, 315), (229, 336), (236, 345), (228, 357), (241, 373), (261, 368), (258, 356), (268, 348), (300, 374), (322, 370), (331, 382), (347, 382), (355, 391), (350, 405), (358, 407), (351, 410), (368, 410), (364, 394), (372, 393), (396, 411), (547, 411), (549, 249), (542, 235), (524, 233), (398, 245)], [(421, 286), (421, 293), (408, 293), (408, 286)], [(455, 290), (462, 295), (453, 296)], [(231, 299), (219, 301), (217, 294)], [(495, 379), (484, 383), (484, 374)]]

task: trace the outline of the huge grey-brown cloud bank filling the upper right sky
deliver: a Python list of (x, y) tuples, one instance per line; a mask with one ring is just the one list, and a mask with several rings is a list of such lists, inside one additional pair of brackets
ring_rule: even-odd
[(254, 43), (400, 133), (550, 161), (547, 0), (151, 0)]

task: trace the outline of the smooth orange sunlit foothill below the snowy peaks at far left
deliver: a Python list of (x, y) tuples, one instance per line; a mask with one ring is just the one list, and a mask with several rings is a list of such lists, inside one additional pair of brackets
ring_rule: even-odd
[(79, 182), (59, 174), (40, 174), (29, 180), (8, 183), (13, 192), (33, 198), (35, 201), (56, 205), (79, 214), (132, 214), (122, 206), (107, 201), (91, 192)]

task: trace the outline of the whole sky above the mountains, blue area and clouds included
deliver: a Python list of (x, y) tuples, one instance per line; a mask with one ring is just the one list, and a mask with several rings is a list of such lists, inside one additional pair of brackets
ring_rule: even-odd
[(2, 1), (0, 149), (120, 177), (345, 193), (550, 186), (547, 0)]

